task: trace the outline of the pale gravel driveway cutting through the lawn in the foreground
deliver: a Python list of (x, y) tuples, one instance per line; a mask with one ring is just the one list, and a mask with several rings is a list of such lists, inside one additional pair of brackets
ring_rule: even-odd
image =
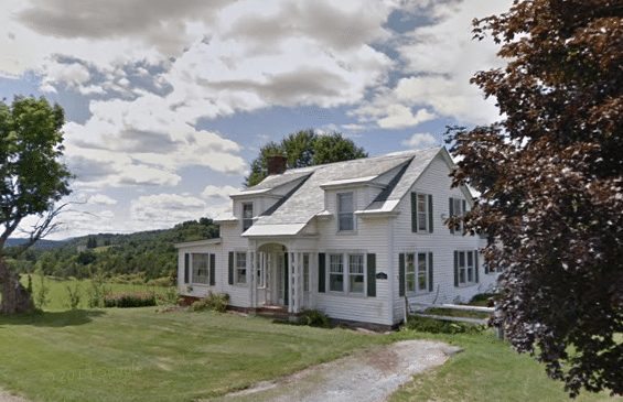
[(441, 366), (460, 348), (429, 340), (406, 340), (319, 365), (219, 401), (384, 401), (411, 376)]

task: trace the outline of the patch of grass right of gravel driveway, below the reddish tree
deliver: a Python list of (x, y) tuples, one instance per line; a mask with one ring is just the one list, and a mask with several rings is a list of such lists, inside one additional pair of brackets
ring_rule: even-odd
[[(402, 334), (404, 333), (404, 334)], [(547, 378), (544, 366), (518, 355), (491, 332), (480, 335), (433, 335), (410, 330), (406, 338), (438, 339), (464, 350), (443, 366), (400, 388), (390, 402), (404, 401), (569, 401), (562, 384)], [(584, 392), (576, 401), (623, 401), (606, 393)]]

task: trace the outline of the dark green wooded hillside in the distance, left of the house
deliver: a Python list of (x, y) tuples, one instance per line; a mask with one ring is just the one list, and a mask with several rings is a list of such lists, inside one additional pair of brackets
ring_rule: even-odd
[[(189, 220), (171, 229), (128, 235), (97, 233), (50, 241), (11, 261), (22, 272), (43, 270), (47, 275), (89, 278), (99, 272), (107, 276), (132, 275), (146, 280), (171, 276), (176, 272), (176, 242), (218, 237), (212, 219)], [(41, 245), (43, 246), (43, 243)]]

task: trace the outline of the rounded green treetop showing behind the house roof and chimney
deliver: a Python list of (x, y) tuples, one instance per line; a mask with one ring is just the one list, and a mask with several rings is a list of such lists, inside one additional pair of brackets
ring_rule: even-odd
[(251, 173), (246, 177), (247, 187), (258, 184), (268, 175), (268, 157), (272, 155), (286, 156), (287, 167), (293, 169), (366, 157), (367, 153), (339, 132), (293, 132), (280, 143), (271, 141), (260, 149), (259, 155), (251, 162)]

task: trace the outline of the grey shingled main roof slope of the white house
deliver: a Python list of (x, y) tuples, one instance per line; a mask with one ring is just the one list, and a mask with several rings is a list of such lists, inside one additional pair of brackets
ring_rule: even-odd
[[(294, 225), (307, 224), (316, 214), (324, 209), (324, 191), (322, 184), (340, 180), (353, 180), (358, 177), (379, 176), (400, 165), (406, 165), (397, 172), (398, 180), (389, 183), (388, 187), (377, 197), (367, 209), (380, 209), (383, 206), (394, 209), (399, 200), (428, 166), (441, 149), (429, 149), (421, 151), (407, 151), (382, 156), (359, 159), (345, 162), (330, 163), (312, 167), (291, 170), (282, 175), (270, 176), (249, 191), (270, 188), (278, 184), (288, 183), (294, 177), (309, 175), (289, 197), (281, 202), (278, 208), (272, 209), (270, 215), (261, 216), (249, 228), (245, 235), (254, 236), (254, 232), (266, 232), (265, 225)], [(254, 229), (255, 228), (255, 229)]]

